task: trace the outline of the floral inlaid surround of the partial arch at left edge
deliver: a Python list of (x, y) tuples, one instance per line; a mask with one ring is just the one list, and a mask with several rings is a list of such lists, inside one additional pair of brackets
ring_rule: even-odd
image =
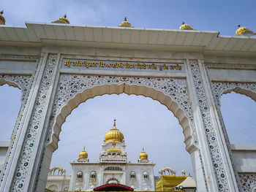
[(1, 178), (0, 185), (4, 180), (4, 173), (5, 173), (5, 170), (7, 169), (7, 165), (10, 160), (10, 156), (12, 154), (12, 147), (15, 144), (15, 138), (20, 128), (20, 121), (22, 120), (23, 111), (26, 107), (26, 102), (29, 96), (29, 91), (31, 89), (32, 80), (33, 78), (31, 76), (26, 76), (26, 75), (4, 75), (4, 74), (0, 75), (0, 85), (3, 85), (4, 83), (8, 83), (9, 85), (13, 85), (14, 87), (20, 88), (22, 92), (22, 96), (21, 96), (22, 103), (21, 103), (20, 111), (18, 113), (18, 118), (15, 122), (15, 127), (13, 128), (13, 131), (12, 131), (11, 144), (10, 144), (10, 147), (8, 147), (7, 157), (5, 158), (4, 166), (0, 174), (0, 178)]

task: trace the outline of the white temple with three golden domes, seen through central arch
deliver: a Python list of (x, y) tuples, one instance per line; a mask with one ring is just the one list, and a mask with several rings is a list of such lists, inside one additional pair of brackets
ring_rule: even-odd
[(93, 191), (101, 185), (118, 183), (127, 185), (135, 191), (155, 191), (154, 166), (148, 160), (147, 153), (140, 153), (137, 163), (127, 161), (124, 135), (116, 128), (105, 134), (99, 162), (89, 162), (85, 148), (77, 161), (70, 163), (71, 176), (65, 175), (65, 169), (54, 166), (48, 174), (46, 188), (50, 191)]

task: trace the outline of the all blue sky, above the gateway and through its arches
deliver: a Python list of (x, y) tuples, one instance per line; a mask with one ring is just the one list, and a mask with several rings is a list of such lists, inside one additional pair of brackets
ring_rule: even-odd
[[(160, 3), (161, 2), (161, 3)], [(15, 1), (2, 0), (7, 26), (26, 22), (50, 23), (67, 14), (72, 25), (118, 26), (124, 17), (136, 28), (178, 29), (182, 21), (202, 31), (219, 31), (234, 36), (238, 24), (256, 31), (256, 1)], [(20, 108), (20, 91), (0, 87), (0, 140), (10, 139)], [(10, 102), (12, 101), (12, 102)], [(222, 116), (231, 143), (256, 144), (256, 103), (236, 93), (222, 96)], [(70, 173), (86, 147), (89, 160), (99, 161), (105, 133), (116, 127), (124, 134), (128, 160), (138, 161), (145, 148), (155, 164), (154, 174), (163, 166), (192, 174), (189, 153), (178, 120), (167, 107), (144, 96), (104, 95), (89, 99), (72, 111), (61, 127), (59, 148), (50, 166), (61, 165)]]

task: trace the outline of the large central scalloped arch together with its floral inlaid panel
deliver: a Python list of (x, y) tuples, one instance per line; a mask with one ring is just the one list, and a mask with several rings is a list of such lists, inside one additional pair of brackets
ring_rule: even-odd
[[(186, 80), (144, 77), (61, 75), (47, 141), (56, 148), (60, 127), (78, 104), (103, 94), (135, 94), (151, 97), (171, 110), (184, 128), (187, 150), (197, 145)], [(55, 144), (54, 144), (55, 142)]]

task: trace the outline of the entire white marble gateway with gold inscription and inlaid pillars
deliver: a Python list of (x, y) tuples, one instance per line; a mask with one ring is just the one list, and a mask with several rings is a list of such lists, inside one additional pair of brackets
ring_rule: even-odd
[[(70, 34), (71, 28), (83, 32)], [(183, 128), (197, 191), (239, 191), (255, 180), (256, 166), (238, 169), (246, 165), (233, 161), (219, 110), (219, 97), (230, 91), (255, 100), (255, 39), (29, 23), (23, 33), (35, 35), (34, 42), (17, 42), (12, 37), (17, 28), (8, 30), (10, 39), (1, 40), (0, 83), (17, 86), (23, 96), (1, 191), (43, 191), (67, 115), (87, 99), (112, 93), (148, 96), (173, 112)], [(50, 37), (53, 30), (69, 37)]]

